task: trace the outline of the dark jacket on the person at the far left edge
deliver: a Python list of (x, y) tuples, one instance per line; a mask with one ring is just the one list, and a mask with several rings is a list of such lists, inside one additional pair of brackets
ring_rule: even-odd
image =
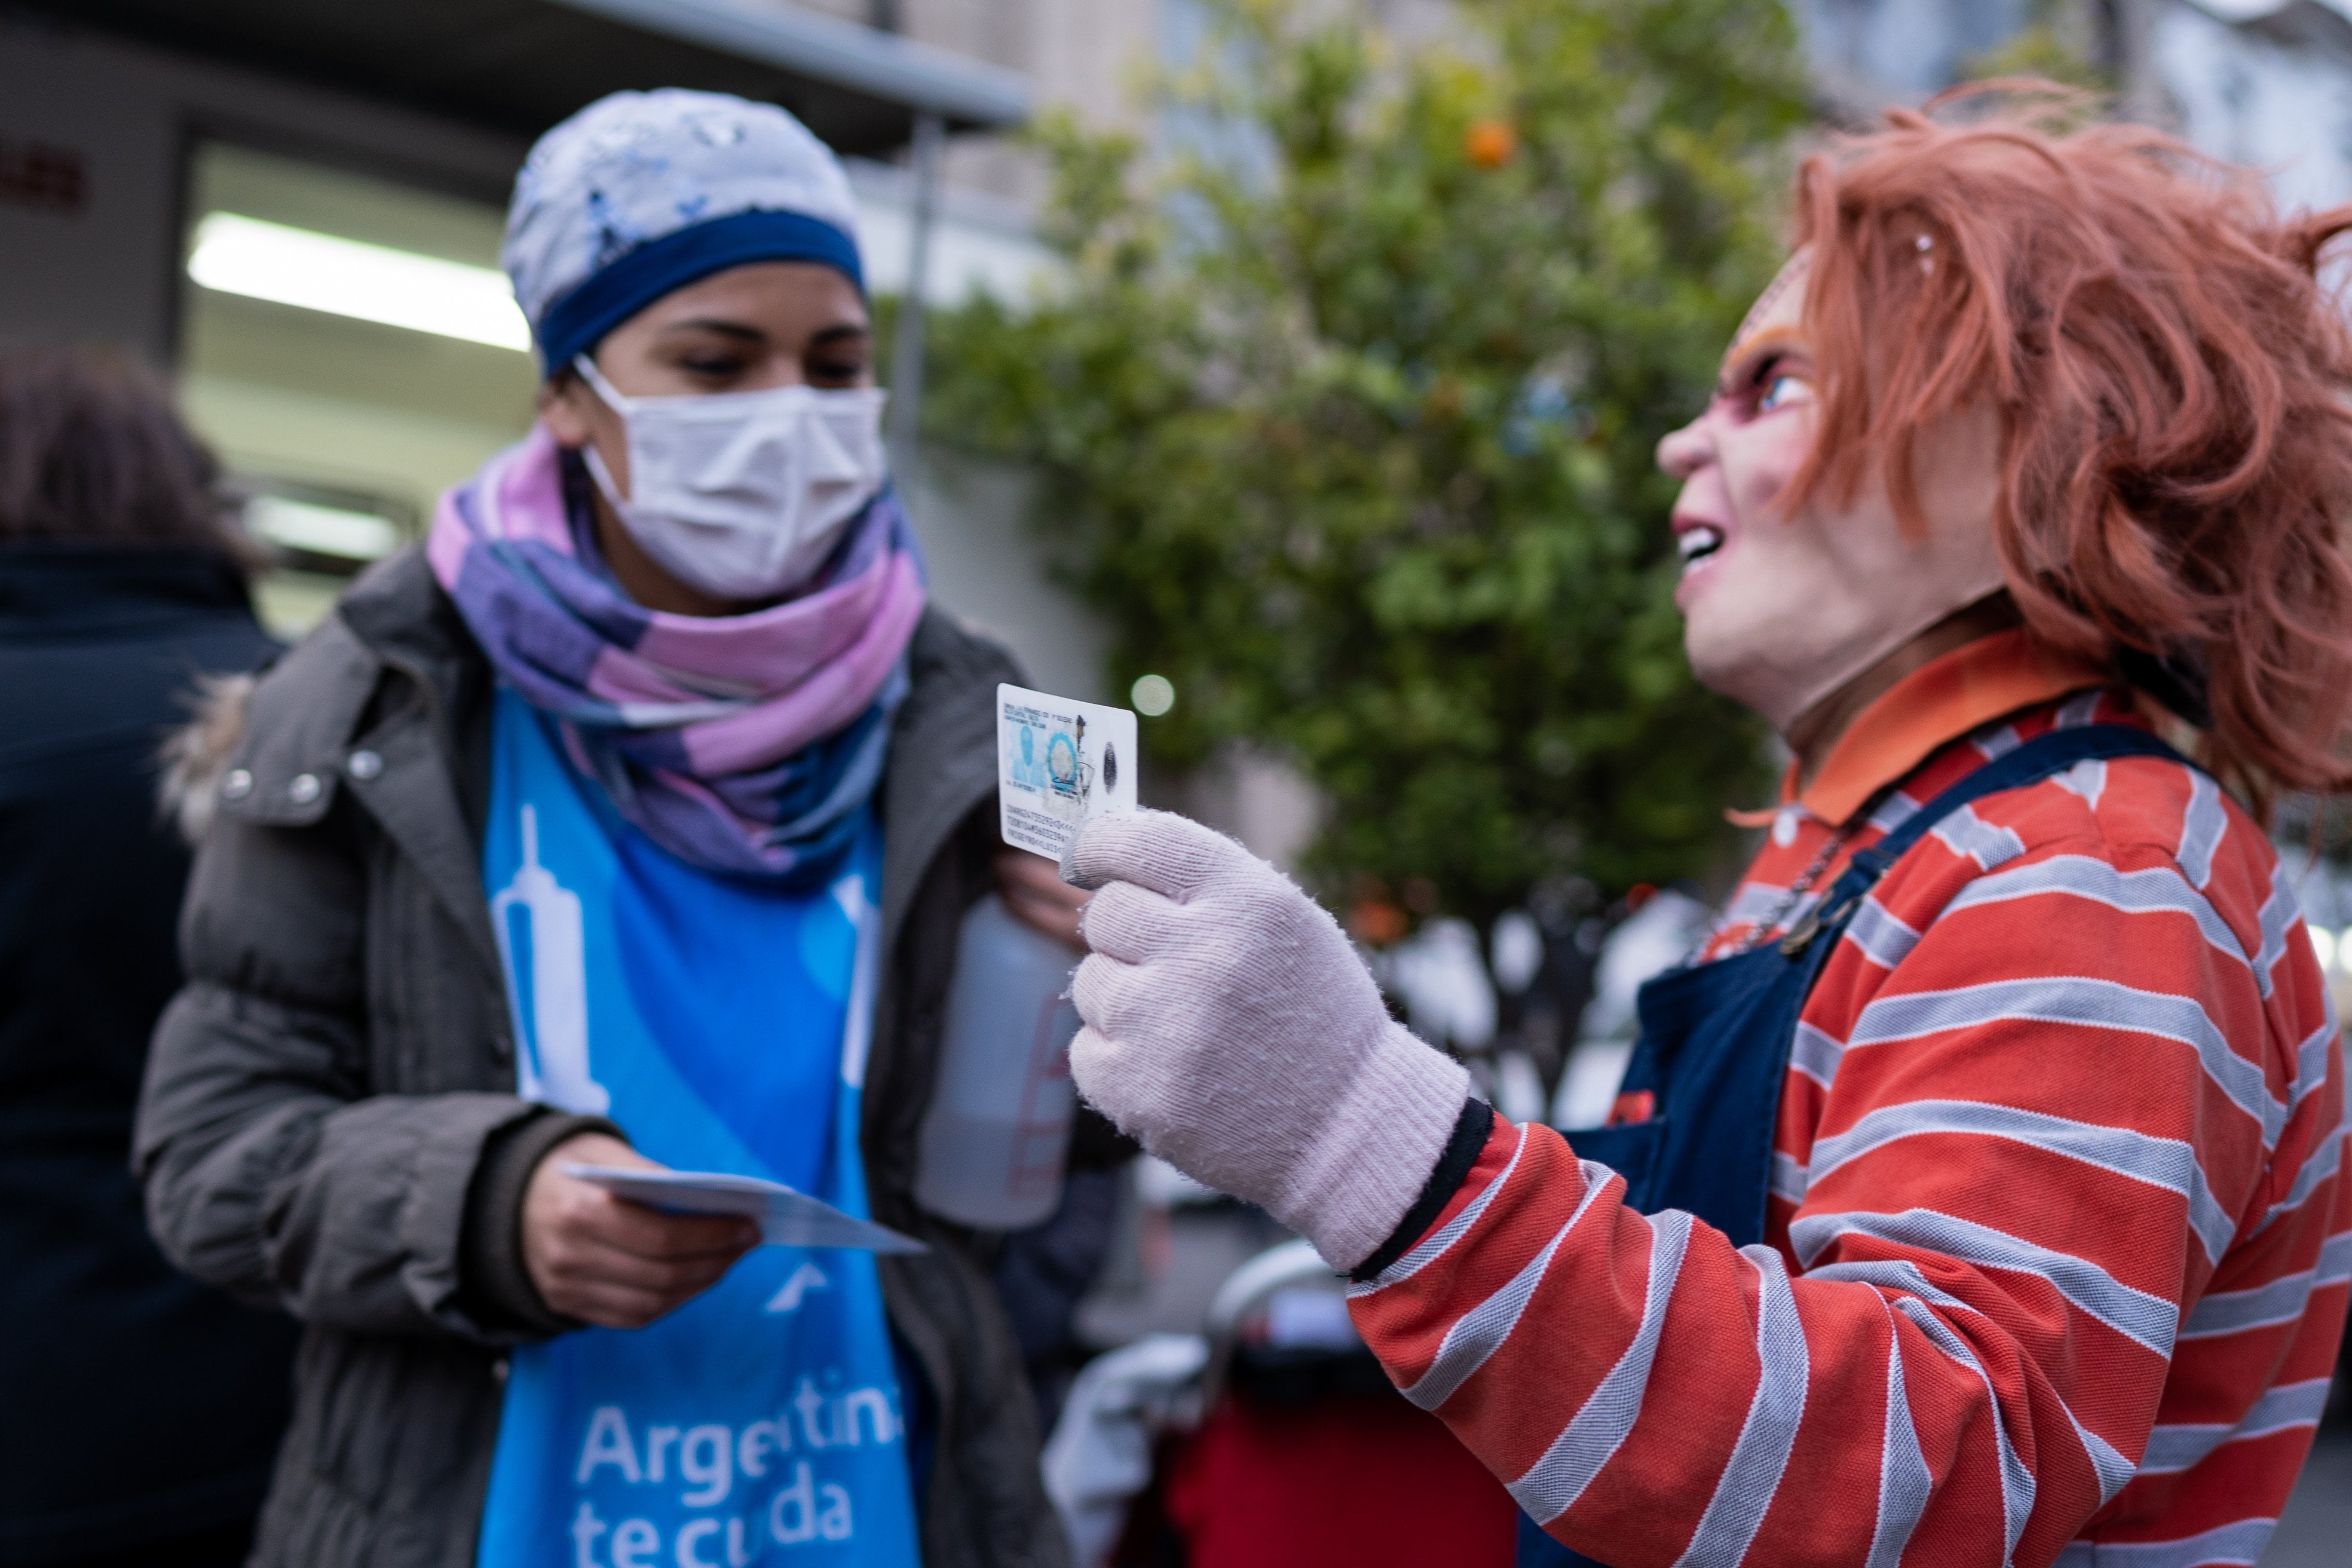
[(275, 644), (223, 557), (0, 545), (0, 1563), (261, 1507), (294, 1326), (176, 1274), (129, 1171), (188, 851), (155, 764)]

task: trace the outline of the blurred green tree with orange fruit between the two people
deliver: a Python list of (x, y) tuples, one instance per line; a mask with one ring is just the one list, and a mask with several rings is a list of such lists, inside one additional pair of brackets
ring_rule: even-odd
[(927, 428), (1042, 475), (1117, 689), (1176, 686), (1155, 759), (1327, 792), (1327, 893), (1703, 870), (1759, 733), (1682, 658), (1653, 447), (1778, 261), (1783, 9), (1484, 0), (1411, 52), (1211, 12), (1176, 150), (1037, 132), (1068, 289), (941, 320)]

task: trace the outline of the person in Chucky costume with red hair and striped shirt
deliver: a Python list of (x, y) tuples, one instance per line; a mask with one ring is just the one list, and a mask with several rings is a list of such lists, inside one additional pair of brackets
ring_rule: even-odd
[(1907, 113), (1797, 195), (1658, 454), (1691, 663), (1795, 762), (1613, 1126), (1468, 1100), (1327, 914), (1157, 813), (1075, 846), (1073, 1067), (1352, 1272), (1550, 1535), (1522, 1563), (2253, 1563), (2352, 1281), (2336, 1020), (2260, 827), (2347, 783), (2314, 263), (2352, 209)]

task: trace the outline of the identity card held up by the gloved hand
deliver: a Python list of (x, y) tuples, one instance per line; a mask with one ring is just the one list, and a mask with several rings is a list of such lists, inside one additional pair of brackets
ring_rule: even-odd
[(997, 686), (997, 827), (1061, 860), (1080, 827), (1136, 809), (1136, 715)]

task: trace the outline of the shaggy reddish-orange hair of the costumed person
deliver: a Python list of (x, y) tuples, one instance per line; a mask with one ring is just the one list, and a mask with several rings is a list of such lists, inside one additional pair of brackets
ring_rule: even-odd
[[(2025, 108), (1929, 118), (1987, 89)], [(2079, 106), (1992, 82), (1804, 162), (1820, 437), (1785, 501), (1849, 503), (1879, 468), (1924, 529), (1917, 433), (1990, 402), (2032, 635), (2209, 726), (2201, 759), (2258, 811), (2343, 790), (2352, 331), (2317, 270), (2352, 207), (2281, 219), (2152, 129), (2051, 125)]]

